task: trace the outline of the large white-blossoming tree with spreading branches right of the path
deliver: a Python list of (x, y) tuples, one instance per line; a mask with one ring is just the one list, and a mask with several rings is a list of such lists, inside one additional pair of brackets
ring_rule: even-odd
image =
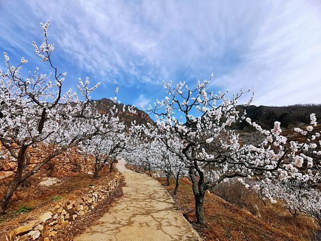
[[(165, 83), (168, 95), (147, 108), (157, 118), (157, 135), (162, 136), (167, 148), (180, 157), (189, 170), (196, 217), (201, 224), (205, 223), (205, 192), (226, 178), (312, 182), (318, 179), (314, 170), (319, 167), (316, 161), (320, 157), (320, 153), (313, 151), (315, 145), (309, 144), (309, 140), (289, 142), (281, 135), (278, 122), (272, 130), (266, 131), (247, 118), (257, 132), (265, 135), (265, 139), (257, 146), (241, 143), (234, 127), (245, 119), (246, 113), (240, 113), (237, 104), (248, 91), (241, 90), (231, 99), (227, 97), (228, 90), (213, 94), (207, 89), (212, 77), (213, 73), (209, 81), (198, 81), (192, 89), (184, 82), (174, 87), (171, 82)], [(313, 115), (311, 124), (316, 124)], [(295, 130), (304, 135), (311, 129), (310, 126), (306, 131)], [(317, 138), (315, 136), (314, 140)]]

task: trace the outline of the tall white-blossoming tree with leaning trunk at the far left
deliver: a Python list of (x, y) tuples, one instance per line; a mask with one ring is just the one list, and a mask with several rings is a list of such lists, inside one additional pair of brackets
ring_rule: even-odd
[[(7, 53), (7, 70), (0, 70), (2, 152), (17, 163), (15, 176), (0, 200), (1, 213), (5, 212), (14, 191), (23, 181), (68, 148), (98, 135), (101, 123), (108, 122), (89, 104), (90, 92), (99, 83), (90, 88), (88, 78), (85, 82), (79, 79), (82, 101), (71, 89), (63, 93), (67, 73), (60, 73), (52, 61), (54, 45), (48, 43), (48, 26), (49, 22), (42, 24), (45, 38), (41, 46), (33, 45), (36, 53), (53, 70), (52, 75), (40, 74), (37, 68), (24, 76), (22, 68), (28, 61), (21, 58), (21, 63), (14, 66)], [(29, 147), (37, 147), (40, 143), (49, 146), (51, 151), (29, 169)]]

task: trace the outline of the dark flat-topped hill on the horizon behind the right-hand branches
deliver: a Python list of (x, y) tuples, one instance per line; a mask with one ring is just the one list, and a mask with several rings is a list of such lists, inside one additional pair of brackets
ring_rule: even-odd
[[(289, 106), (238, 106), (240, 110), (246, 110), (247, 117), (261, 125), (263, 129), (272, 129), (275, 121), (281, 123), (282, 128), (291, 128), (310, 123), (310, 114), (315, 113), (321, 123), (321, 104), (296, 104)], [(239, 125), (240, 129), (248, 127), (246, 122)]]

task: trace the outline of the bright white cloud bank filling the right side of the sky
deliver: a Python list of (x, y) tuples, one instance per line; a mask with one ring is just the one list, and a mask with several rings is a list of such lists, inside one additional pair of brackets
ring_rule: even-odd
[(273, 5), (243, 55), (243, 63), (214, 84), (251, 87), (255, 104), (320, 103), (320, 5)]

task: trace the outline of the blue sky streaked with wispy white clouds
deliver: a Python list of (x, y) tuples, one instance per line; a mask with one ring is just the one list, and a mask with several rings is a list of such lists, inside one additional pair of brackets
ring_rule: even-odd
[(0, 0), (0, 10), (0, 52), (48, 72), (32, 41), (49, 20), (66, 89), (89, 76), (102, 82), (94, 99), (119, 86), (120, 101), (146, 105), (165, 96), (163, 80), (193, 85), (213, 71), (213, 91), (252, 88), (256, 105), (321, 102), (318, 0)]

